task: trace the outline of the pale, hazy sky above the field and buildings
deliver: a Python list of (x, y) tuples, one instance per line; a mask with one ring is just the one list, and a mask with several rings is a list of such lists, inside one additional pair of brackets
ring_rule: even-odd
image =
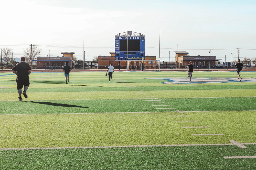
[[(255, 58), (255, 0), (8, 0), (1, 2), (0, 47), (23, 56), (29, 44), (41, 56), (74, 51), (87, 61), (110, 56), (114, 36), (133, 31), (145, 35), (145, 55), (174, 60), (178, 51), (190, 56), (216, 56), (231, 61)], [(84, 50), (83, 50), (84, 43)]]

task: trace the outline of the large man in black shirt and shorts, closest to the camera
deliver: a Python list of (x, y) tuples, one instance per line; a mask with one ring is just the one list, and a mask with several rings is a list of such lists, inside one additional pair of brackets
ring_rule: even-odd
[[(16, 83), (17, 83), (17, 89), (19, 94), (19, 101), (22, 101), (21, 94), (24, 95), (25, 98), (27, 98), (27, 89), (29, 86), (29, 74), (31, 73), (31, 67), (28, 63), (25, 62), (25, 57), (20, 57), (20, 62), (17, 63), (13, 67), (13, 73), (16, 74)], [(22, 88), (24, 86), (24, 90), (22, 92)]]

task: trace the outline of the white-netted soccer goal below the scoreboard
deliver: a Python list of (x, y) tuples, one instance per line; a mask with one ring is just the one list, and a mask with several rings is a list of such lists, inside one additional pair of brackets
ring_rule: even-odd
[(126, 71), (160, 71), (160, 61), (127, 60)]

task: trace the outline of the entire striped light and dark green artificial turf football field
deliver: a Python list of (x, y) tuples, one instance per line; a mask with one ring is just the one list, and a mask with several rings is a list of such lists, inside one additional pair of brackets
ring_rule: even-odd
[[(0, 72), (0, 169), (256, 168), (255, 158), (223, 158), (256, 156), (255, 82), (163, 84), (187, 78), (186, 69), (115, 71), (111, 82), (105, 72), (71, 71), (68, 85), (63, 72), (29, 76), (28, 98), (19, 102), (16, 75)], [(193, 77), (237, 79), (237, 73), (196, 70)], [(143, 147), (231, 140), (251, 145)], [(133, 145), (141, 147), (112, 148)], [(65, 149), (90, 146), (110, 148)]]

